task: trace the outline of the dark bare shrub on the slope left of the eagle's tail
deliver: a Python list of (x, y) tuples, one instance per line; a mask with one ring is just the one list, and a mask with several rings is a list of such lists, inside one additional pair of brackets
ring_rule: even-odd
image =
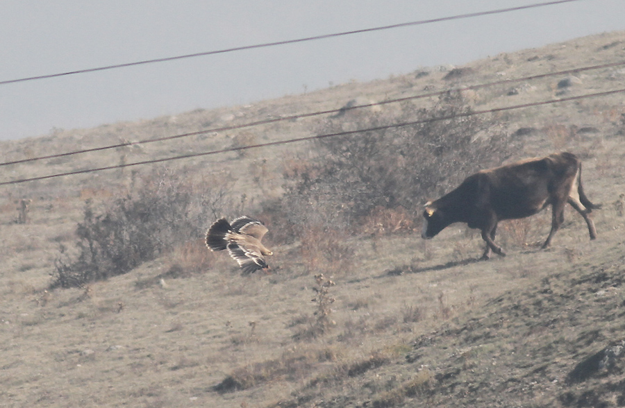
[(197, 243), (185, 245), (203, 236), (216, 212), (234, 207), (224, 186), (196, 185), (167, 169), (157, 169), (139, 184), (99, 212), (87, 201), (83, 221), (76, 228), (77, 255), (61, 246), (51, 288), (83, 286), (121, 275), (178, 246), (182, 246), (177, 253), (182, 264), (203, 267), (208, 258), (201, 255)]

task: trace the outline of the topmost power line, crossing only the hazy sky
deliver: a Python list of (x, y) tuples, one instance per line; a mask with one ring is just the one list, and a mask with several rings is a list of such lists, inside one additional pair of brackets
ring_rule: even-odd
[(249, 50), (249, 49), (265, 48), (265, 47), (269, 47), (269, 46), (279, 46), (279, 45), (285, 45), (285, 44), (295, 44), (295, 43), (298, 43), (298, 42), (308, 42), (308, 41), (314, 41), (314, 40), (324, 40), (324, 39), (327, 39), (327, 38), (342, 37), (342, 36), (346, 36), (346, 35), (370, 33), (370, 32), (373, 32), (373, 31), (390, 30), (392, 28), (401, 28), (401, 27), (408, 27), (408, 26), (419, 26), (419, 25), (422, 25), (422, 24), (431, 24), (431, 23), (438, 23), (438, 22), (449, 22), (449, 21), (458, 20), (458, 19), (467, 19), (467, 18), (472, 18), (472, 17), (481, 17), (481, 16), (485, 16), (485, 15), (501, 14), (501, 13), (504, 13), (504, 12), (527, 10), (527, 9), (530, 9), (530, 8), (538, 8), (538, 7), (544, 7), (544, 6), (553, 6), (553, 5), (561, 4), (561, 3), (572, 3), (573, 1), (580, 1), (580, 0), (556, 0), (556, 1), (548, 1), (548, 2), (545, 2), (545, 3), (533, 3), (533, 4), (528, 4), (526, 6), (517, 6), (517, 7), (510, 7), (510, 8), (500, 8), (500, 9), (497, 9), (497, 10), (487, 10), (487, 11), (479, 11), (479, 12), (469, 12), (469, 13), (466, 13), (466, 14), (453, 15), (453, 16), (449, 16), (449, 17), (440, 17), (440, 18), (435, 18), (435, 19), (419, 20), (419, 21), (416, 21), (416, 22), (391, 24), (390, 26), (380, 26), (380, 27), (374, 27), (374, 28), (363, 28), (363, 29), (360, 29), (360, 30), (344, 31), (342, 33), (315, 35), (313, 37), (303, 37), (303, 38), (298, 38), (298, 39), (295, 39), (295, 40), (265, 42), (265, 43), (262, 43), (262, 44), (253, 44), (253, 45), (246, 45), (246, 46), (236, 46), (236, 47), (233, 47), (233, 48), (220, 49), (220, 50), (216, 50), (216, 51), (206, 51), (206, 52), (201, 52), (201, 53), (185, 54), (183, 56), (174, 56), (174, 57), (167, 57), (167, 58), (155, 58), (153, 60), (142, 60), (142, 61), (136, 61), (136, 62), (126, 62), (124, 64), (107, 65), (107, 66), (104, 66), (104, 67), (96, 67), (96, 68), (88, 68), (88, 69), (77, 69), (76, 71), (67, 71), (67, 72), (61, 72), (61, 73), (58, 73), (58, 74), (48, 74), (48, 75), (30, 76), (30, 77), (26, 77), (26, 78), (18, 78), (18, 79), (12, 79), (12, 80), (2, 80), (2, 81), (0, 81), (0, 85), (7, 85), (7, 84), (10, 84), (10, 83), (18, 83), (18, 82), (26, 82), (28, 80), (35, 80), (35, 79), (56, 78), (58, 76), (68, 76), (68, 75), (74, 75), (74, 74), (85, 74), (87, 72), (106, 71), (108, 69), (133, 67), (133, 66), (136, 66), (136, 65), (153, 64), (153, 63), (156, 63), (156, 62), (167, 62), (167, 61), (174, 61), (174, 60), (182, 60), (182, 59), (185, 59), (185, 58), (195, 58), (195, 57), (201, 57), (201, 56), (211, 56), (211, 55), (215, 55), (215, 54), (230, 53), (230, 52), (234, 52), (234, 51), (244, 51), (244, 50)]

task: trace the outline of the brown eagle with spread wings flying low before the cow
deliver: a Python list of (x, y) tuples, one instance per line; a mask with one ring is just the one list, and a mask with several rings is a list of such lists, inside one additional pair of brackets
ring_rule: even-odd
[(227, 249), (244, 275), (248, 275), (269, 268), (265, 256), (273, 253), (260, 242), (266, 233), (267, 227), (249, 216), (240, 216), (232, 223), (222, 218), (206, 231), (206, 246), (213, 251)]

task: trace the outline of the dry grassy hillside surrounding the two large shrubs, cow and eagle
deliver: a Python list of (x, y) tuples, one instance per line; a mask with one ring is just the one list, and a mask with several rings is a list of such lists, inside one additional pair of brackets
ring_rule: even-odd
[[(453, 71), (417, 69), (255, 105), (54, 130), (46, 137), (3, 142), (2, 161), (338, 109), (352, 99), (384, 101), (619, 61), (625, 61), (625, 33), (607, 33)], [(487, 110), (624, 87), (625, 67), (619, 66), (464, 96), (475, 110)], [(239, 275), (226, 254), (208, 253), (199, 236), (164, 247), (123, 275), (52, 290), (50, 274), (60, 248), (76, 255), (85, 200), (100, 210), (139, 191), (141, 180), (164, 179), (140, 166), (3, 186), (0, 405), (625, 405), (622, 101), (623, 94), (614, 94), (490, 115), (503, 134), (522, 141), (508, 160), (577, 153), (585, 191), (603, 209), (593, 212), (599, 237), (592, 242), (581, 217), (567, 209), (549, 250), (534, 243), (547, 236), (550, 214), (503, 223), (498, 241), (508, 256), (488, 262), (475, 261), (483, 246), (476, 232), (451, 226), (423, 241), (415, 220), (397, 213), (399, 219), (389, 225), (406, 221), (402, 225), (410, 228), (333, 237), (318, 230), (308, 241), (279, 241), (284, 244), (272, 242), (279, 231), (270, 229), (271, 274)], [(424, 108), (433, 103), (415, 102)], [(4, 180), (303, 137), (315, 134), (319, 121), (278, 121), (16, 164), (5, 167)], [(314, 154), (315, 146), (175, 160), (167, 162), (165, 174), (175, 175), (172, 184), (185, 186), (178, 192), (204, 194), (206, 200), (227, 192), (215, 209), (260, 211), (261, 202), (279, 201), (285, 175), (300, 158)], [(31, 202), (25, 222), (17, 222), (22, 199)], [(217, 215), (198, 214), (196, 222), (204, 228)], [(324, 248), (340, 249), (342, 262), (324, 260)]]

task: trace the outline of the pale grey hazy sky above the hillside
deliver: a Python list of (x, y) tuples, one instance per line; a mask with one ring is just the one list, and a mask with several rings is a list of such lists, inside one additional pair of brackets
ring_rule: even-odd
[[(1, 0), (0, 81), (545, 0)], [(300, 94), (625, 30), (625, 0), (0, 85), (0, 139)]]

